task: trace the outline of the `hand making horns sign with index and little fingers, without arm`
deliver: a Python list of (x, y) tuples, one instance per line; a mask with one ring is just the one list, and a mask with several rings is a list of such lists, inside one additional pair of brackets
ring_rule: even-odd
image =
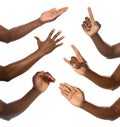
[(68, 63), (78, 74), (85, 75), (85, 73), (89, 71), (87, 62), (84, 60), (84, 58), (81, 56), (80, 52), (74, 45), (72, 45), (71, 47), (73, 48), (76, 57), (72, 56), (70, 61), (64, 58), (64, 61)]

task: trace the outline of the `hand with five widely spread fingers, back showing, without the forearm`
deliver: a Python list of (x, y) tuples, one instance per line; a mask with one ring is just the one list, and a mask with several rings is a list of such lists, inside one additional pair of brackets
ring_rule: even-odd
[(57, 38), (61, 34), (61, 31), (58, 31), (55, 35), (53, 35), (54, 31), (55, 31), (55, 29), (53, 29), (49, 33), (49, 35), (45, 41), (41, 41), (37, 36), (35, 36), (35, 39), (37, 40), (37, 43), (38, 43), (39, 50), (44, 55), (52, 52), (55, 48), (57, 48), (63, 44), (63, 43), (57, 44), (59, 41), (61, 41), (64, 38), (64, 36)]

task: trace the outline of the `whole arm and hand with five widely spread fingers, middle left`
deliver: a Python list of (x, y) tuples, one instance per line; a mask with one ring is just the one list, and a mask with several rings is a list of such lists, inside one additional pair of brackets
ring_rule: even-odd
[[(55, 35), (54, 29), (49, 33), (45, 41), (41, 41), (38, 37), (35, 37), (38, 43), (38, 50), (30, 54), (26, 58), (9, 64), (5, 67), (0, 67), (0, 80), (9, 81), (20, 74), (26, 72), (30, 67), (32, 67), (40, 58), (51, 53), (54, 49), (61, 46), (63, 43), (58, 44), (64, 37), (57, 38), (61, 31), (58, 31)], [(53, 37), (52, 37), (53, 36)]]

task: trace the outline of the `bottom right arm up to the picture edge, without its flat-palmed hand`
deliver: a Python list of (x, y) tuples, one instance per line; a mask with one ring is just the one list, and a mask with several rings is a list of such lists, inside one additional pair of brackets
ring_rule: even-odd
[(90, 102), (84, 101), (80, 108), (92, 115), (106, 120), (115, 120), (120, 117), (120, 98), (110, 107), (96, 106)]

